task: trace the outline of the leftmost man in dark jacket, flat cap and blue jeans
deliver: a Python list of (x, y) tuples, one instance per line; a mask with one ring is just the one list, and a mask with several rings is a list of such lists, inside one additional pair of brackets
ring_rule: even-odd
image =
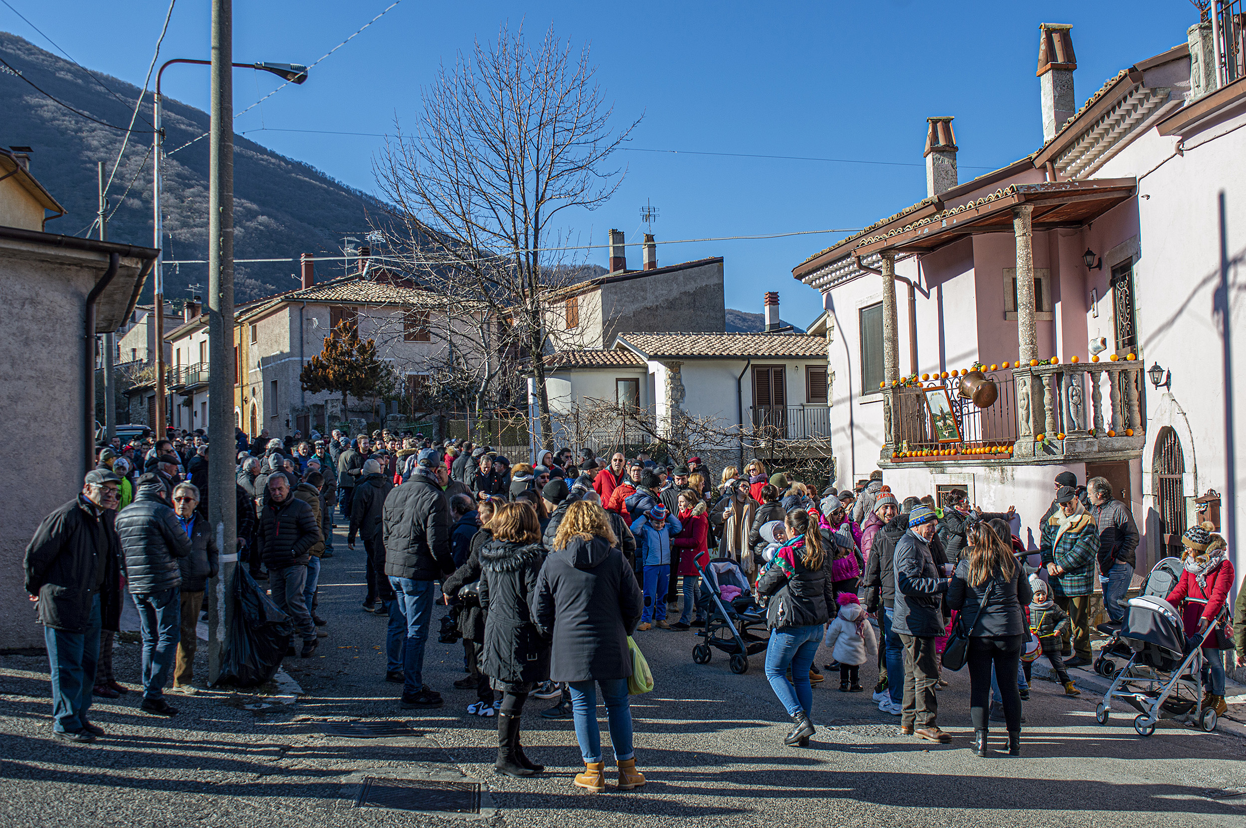
[(52, 676), (52, 735), (90, 742), (103, 730), (87, 717), (100, 630), (121, 619), (121, 544), (113, 519), (121, 478), (92, 469), (82, 492), (44, 518), (26, 547), (26, 591), (39, 601)]

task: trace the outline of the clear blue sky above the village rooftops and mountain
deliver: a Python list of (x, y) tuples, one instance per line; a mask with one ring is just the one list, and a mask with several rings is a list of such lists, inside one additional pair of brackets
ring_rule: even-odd
[[(391, 0), (234, 4), (234, 60), (310, 64)], [(163, 0), (7, 0), (75, 60), (141, 85), (164, 19)], [(208, 57), (206, 0), (179, 0), (161, 50)], [(1197, 19), (1187, 0), (1119, 2), (459, 2), (402, 0), (376, 24), (238, 118), (248, 138), (375, 192), (381, 138), (287, 129), (383, 133), (414, 126), (420, 87), (439, 64), (492, 39), (502, 21), (533, 36), (552, 24), (588, 42), (618, 123), (644, 115), (619, 153), (627, 176), (594, 213), (572, 217), (581, 243), (609, 228), (643, 232), (639, 208), (660, 209), (658, 239), (858, 228), (926, 194), (926, 118), (956, 116), (961, 181), (1014, 161), (1042, 143), (1038, 24), (1073, 24), (1079, 101), (1120, 68), (1185, 41)], [(0, 29), (57, 51), (0, 4)], [(168, 95), (207, 108), (207, 72), (173, 67)], [(243, 110), (279, 81), (234, 76)], [(267, 131), (262, 131), (267, 127)], [(644, 149), (678, 149), (644, 152)], [(800, 156), (886, 163), (832, 163), (690, 152)], [(911, 164), (911, 166), (905, 166)], [(726, 259), (726, 304), (761, 310), (779, 290), (782, 316), (807, 324), (816, 291), (791, 268), (842, 234), (664, 245), (659, 264)], [(288, 254), (274, 250), (273, 254)], [(629, 256), (639, 252), (629, 248)], [(589, 261), (606, 264), (606, 250)]]

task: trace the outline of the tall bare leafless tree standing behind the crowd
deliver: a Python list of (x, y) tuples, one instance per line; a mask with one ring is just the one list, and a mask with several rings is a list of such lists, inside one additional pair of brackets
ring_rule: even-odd
[(399, 127), (376, 163), (412, 269), (430, 289), (485, 305), (475, 320), (486, 383), (530, 366), (547, 446), (541, 355), (558, 344), (558, 291), (578, 273), (551, 248), (568, 238), (564, 210), (613, 195), (622, 171), (609, 158), (639, 123), (611, 128), (594, 72), (587, 45), (577, 52), (551, 29), (533, 47), (503, 25), (441, 70), (414, 136)]

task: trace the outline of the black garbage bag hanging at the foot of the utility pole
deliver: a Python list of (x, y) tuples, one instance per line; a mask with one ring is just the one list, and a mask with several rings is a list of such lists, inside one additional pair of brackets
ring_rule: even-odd
[(233, 594), (233, 624), (216, 684), (258, 687), (282, 666), (294, 635), (294, 623), (268, 599), (245, 567), (234, 568)]

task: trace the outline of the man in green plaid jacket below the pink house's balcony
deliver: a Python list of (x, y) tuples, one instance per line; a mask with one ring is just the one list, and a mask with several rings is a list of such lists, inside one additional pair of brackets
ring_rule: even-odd
[(1055, 502), (1059, 509), (1043, 523), (1040, 549), (1052, 599), (1073, 623), (1075, 652), (1064, 666), (1080, 667), (1090, 664), (1090, 595), (1099, 555), (1099, 528), (1073, 487), (1060, 487)]

